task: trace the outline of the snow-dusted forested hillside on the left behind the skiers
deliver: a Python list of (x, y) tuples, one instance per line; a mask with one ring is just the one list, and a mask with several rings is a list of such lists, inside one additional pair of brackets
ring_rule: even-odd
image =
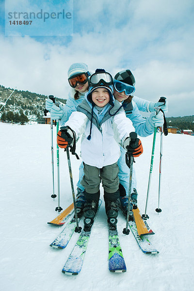
[[(14, 89), (0, 85), (0, 108)], [(43, 118), (46, 95), (29, 91), (15, 90), (6, 105), (0, 111), (0, 120), (4, 122), (24, 124), (28, 121), (45, 123)], [(57, 101), (66, 103), (65, 99), (56, 98)]]

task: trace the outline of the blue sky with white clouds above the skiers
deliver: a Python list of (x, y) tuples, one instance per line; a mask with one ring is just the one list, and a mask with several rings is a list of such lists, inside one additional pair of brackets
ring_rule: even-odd
[[(153, 102), (166, 97), (167, 117), (194, 114), (193, 0), (69, 0), (69, 34), (62, 35), (62, 22), (57, 30), (54, 19), (43, 23), (43, 34), (53, 31), (54, 36), (32, 36), (32, 30), (29, 35), (5, 35), (5, 7), (6, 12), (13, 5), (27, 11), (32, 0), (5, 1), (0, 0), (1, 85), (67, 98), (72, 63), (86, 63), (89, 70), (105, 68), (113, 76), (130, 69), (136, 96)], [(44, 2), (57, 11), (70, 9), (65, 0)], [(40, 35), (41, 27), (36, 31)]]

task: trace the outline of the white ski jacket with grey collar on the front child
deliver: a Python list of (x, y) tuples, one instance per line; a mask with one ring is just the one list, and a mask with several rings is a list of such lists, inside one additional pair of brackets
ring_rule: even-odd
[[(116, 113), (120, 108), (120, 103), (115, 100), (111, 114)], [(126, 117), (123, 108), (114, 116), (109, 114), (109, 108), (99, 122), (97, 115), (93, 112), (87, 100), (83, 100), (77, 107), (77, 112), (73, 112), (65, 126), (69, 126), (76, 133), (77, 139), (81, 139), (81, 158), (84, 163), (102, 168), (118, 161), (120, 157), (120, 146), (123, 146), (125, 139), (131, 131), (135, 131), (131, 120)], [(92, 119), (91, 139), (90, 134)]]

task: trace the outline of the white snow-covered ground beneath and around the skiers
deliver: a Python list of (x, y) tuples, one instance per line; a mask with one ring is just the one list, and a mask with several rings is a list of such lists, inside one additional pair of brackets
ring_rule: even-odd
[[(144, 153), (135, 159), (135, 168), (138, 204), (144, 213), (153, 135), (141, 140)], [(79, 146), (78, 143), (77, 152)], [(80, 161), (72, 155), (70, 158), (76, 189)], [(58, 200), (50, 197), (50, 127), (0, 123), (0, 290), (194, 290), (194, 137), (169, 133), (163, 138), (160, 214), (155, 211), (159, 159), (160, 133), (157, 133), (147, 214), (150, 216), (148, 224), (155, 232), (149, 240), (160, 254), (143, 254), (131, 232), (129, 236), (122, 234), (125, 220), (119, 214), (118, 233), (127, 273), (109, 272), (108, 227), (102, 202), (81, 273), (67, 276), (61, 270), (79, 234), (73, 234), (64, 250), (49, 246), (63, 229), (63, 226), (47, 224), (56, 217), (55, 207), (58, 206)], [(65, 209), (72, 203), (72, 194), (66, 154), (61, 149), (60, 182), (61, 206)]]

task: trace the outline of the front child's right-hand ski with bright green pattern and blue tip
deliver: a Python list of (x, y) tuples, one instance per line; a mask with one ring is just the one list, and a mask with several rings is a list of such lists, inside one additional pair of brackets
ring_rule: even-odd
[[(111, 218), (114, 220), (114, 218)], [(126, 264), (123, 257), (122, 249), (119, 242), (118, 231), (115, 226), (109, 225), (109, 271), (110, 272), (126, 272)]]

